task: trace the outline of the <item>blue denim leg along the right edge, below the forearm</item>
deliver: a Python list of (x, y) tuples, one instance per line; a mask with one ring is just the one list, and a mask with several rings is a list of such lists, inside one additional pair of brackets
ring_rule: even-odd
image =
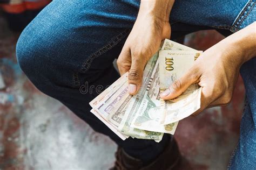
[(240, 126), (240, 138), (229, 169), (256, 168), (256, 58), (241, 67), (246, 89), (246, 105)]

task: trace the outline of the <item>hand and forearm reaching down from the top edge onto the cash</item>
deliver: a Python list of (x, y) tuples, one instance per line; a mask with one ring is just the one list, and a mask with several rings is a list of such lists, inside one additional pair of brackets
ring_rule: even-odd
[(129, 71), (129, 93), (142, 84), (144, 67), (157, 52), (161, 40), (170, 38), (169, 15), (174, 1), (142, 1), (136, 22), (120, 53), (117, 66), (121, 75)]

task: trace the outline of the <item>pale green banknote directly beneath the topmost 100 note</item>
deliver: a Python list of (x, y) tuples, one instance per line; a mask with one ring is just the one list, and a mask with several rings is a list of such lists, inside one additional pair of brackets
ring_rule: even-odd
[(163, 116), (160, 108), (160, 86), (159, 86), (159, 60), (157, 60), (153, 73), (149, 78), (146, 90), (141, 100), (138, 95), (132, 97), (133, 110), (135, 117), (131, 123), (131, 127), (148, 131), (174, 134), (178, 122), (168, 125), (161, 125), (160, 120)]

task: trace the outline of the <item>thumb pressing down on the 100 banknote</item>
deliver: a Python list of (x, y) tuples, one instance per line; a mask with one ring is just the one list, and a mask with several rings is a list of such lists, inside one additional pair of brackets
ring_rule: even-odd
[(172, 98), (181, 95), (191, 84), (199, 81), (200, 74), (197, 69), (190, 69), (183, 77), (174, 81), (172, 85), (160, 94), (160, 97), (164, 100), (170, 100)]

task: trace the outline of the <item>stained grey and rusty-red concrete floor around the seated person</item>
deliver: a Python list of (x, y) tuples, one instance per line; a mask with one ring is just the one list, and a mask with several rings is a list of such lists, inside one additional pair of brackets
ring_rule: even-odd
[[(31, 84), (17, 65), (17, 37), (0, 17), (0, 71), (5, 85), (0, 90), (0, 169), (111, 167), (117, 145)], [(197, 32), (186, 36), (185, 45), (205, 50), (223, 38), (215, 31)], [(228, 107), (207, 109), (180, 121), (175, 137), (187, 160), (180, 169), (226, 169), (238, 141), (243, 101), (240, 77)]]

